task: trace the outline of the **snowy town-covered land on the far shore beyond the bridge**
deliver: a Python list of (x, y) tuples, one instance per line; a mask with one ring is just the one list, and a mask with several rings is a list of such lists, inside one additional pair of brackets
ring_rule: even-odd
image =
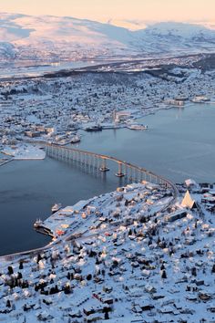
[[(116, 112), (125, 111), (132, 123), (138, 117), (172, 107), (176, 99), (185, 105), (196, 98), (214, 102), (214, 70), (202, 73), (200, 68), (191, 67), (193, 61), (189, 59), (175, 58), (172, 64), (177, 67), (159, 72), (152, 69), (149, 74), (125, 73), (129, 68), (141, 69), (146, 64), (143, 62), (110, 66), (110, 72), (107, 66), (102, 73), (99, 68), (93, 74), (79, 71), (67, 78), (2, 81), (0, 145), (20, 140), (63, 143), (92, 123), (104, 128), (125, 126), (125, 120), (116, 122)], [(152, 60), (150, 64), (159, 62)], [(116, 68), (124, 68), (124, 73), (112, 73)]]

